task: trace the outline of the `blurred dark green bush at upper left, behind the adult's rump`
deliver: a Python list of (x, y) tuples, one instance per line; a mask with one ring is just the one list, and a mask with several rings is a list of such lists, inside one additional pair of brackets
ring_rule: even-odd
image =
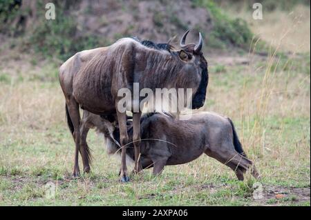
[[(25, 0), (24, 0), (25, 1)], [(71, 16), (71, 0), (54, 1), (57, 14), (55, 20), (45, 19), (44, 1), (37, 1), (37, 16), (30, 18), (31, 8), (20, 8), (20, 0), (0, 0), (0, 31), (10, 36), (21, 36), (21, 48), (32, 48), (45, 57), (66, 60), (75, 52), (94, 48), (100, 39), (91, 34), (77, 34), (77, 21)], [(24, 27), (26, 19), (31, 26)], [(2, 25), (3, 24), (3, 25)], [(26, 30), (25, 30), (26, 29)]]

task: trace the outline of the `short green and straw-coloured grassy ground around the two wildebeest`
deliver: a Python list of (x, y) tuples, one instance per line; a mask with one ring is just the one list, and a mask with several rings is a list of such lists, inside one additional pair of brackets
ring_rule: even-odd
[[(245, 53), (239, 59), (205, 53), (210, 82), (204, 110), (233, 119), (260, 183), (249, 175), (237, 181), (232, 170), (206, 156), (166, 167), (160, 177), (145, 170), (119, 183), (120, 161), (107, 157), (93, 131), (88, 136), (93, 172), (70, 177), (74, 146), (58, 64), (3, 49), (0, 205), (310, 206), (310, 51), (300, 52)], [(263, 197), (254, 199), (261, 188)]]

